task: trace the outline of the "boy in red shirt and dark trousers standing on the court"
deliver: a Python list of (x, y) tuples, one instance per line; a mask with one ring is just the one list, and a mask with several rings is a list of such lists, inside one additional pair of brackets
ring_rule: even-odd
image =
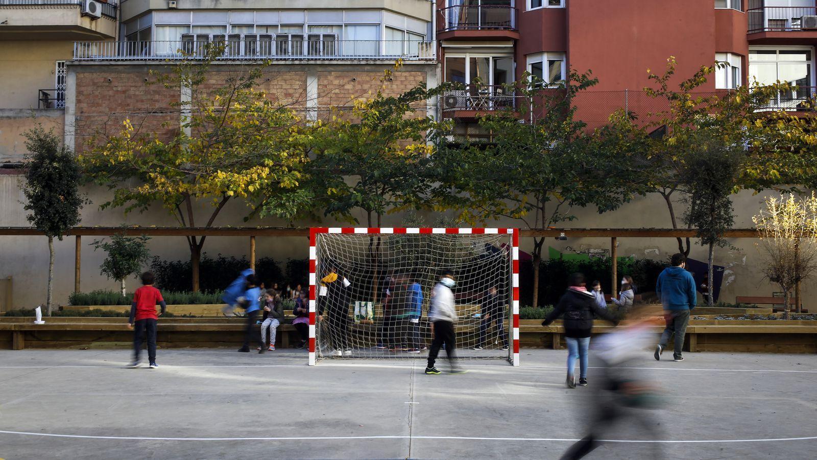
[(162, 313), (167, 309), (162, 293), (153, 286), (153, 272), (142, 273), (142, 284), (133, 293), (133, 303), (131, 304), (131, 318), (127, 320), (127, 327), (133, 329), (133, 363), (131, 368), (139, 366), (139, 353), (142, 349), (142, 331), (147, 333), (148, 359), (150, 368), (158, 368), (156, 364), (156, 305), (162, 306)]

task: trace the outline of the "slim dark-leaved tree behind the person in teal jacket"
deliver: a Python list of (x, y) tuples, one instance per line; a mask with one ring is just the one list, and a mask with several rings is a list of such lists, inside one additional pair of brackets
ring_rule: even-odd
[(707, 303), (714, 303), (712, 263), (715, 246), (730, 246), (724, 235), (734, 224), (731, 194), (740, 176), (743, 147), (725, 145), (699, 133), (685, 160), (682, 183), (689, 191), (686, 223), (698, 229), (700, 244), (709, 247)]

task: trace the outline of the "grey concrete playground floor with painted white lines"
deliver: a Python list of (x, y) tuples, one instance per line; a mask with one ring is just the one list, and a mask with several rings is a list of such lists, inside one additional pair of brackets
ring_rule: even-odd
[[(0, 458), (559, 458), (601, 372), (565, 388), (564, 350), (440, 376), (423, 359), (310, 368), (301, 350), (159, 350), (158, 369), (129, 355), (0, 351)], [(587, 458), (817, 457), (817, 356), (664, 356), (632, 369), (663, 384), (663, 408), (633, 410)]]

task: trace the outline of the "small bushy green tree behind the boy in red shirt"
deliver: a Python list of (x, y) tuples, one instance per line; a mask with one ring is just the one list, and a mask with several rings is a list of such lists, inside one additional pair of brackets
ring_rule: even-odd
[(92, 242), (94, 250), (102, 249), (108, 253), (100, 265), (100, 274), (108, 279), (119, 282), (122, 296), (125, 296), (125, 278), (136, 275), (150, 259), (150, 250), (147, 248), (149, 237), (125, 237), (115, 234), (110, 241), (97, 240)]

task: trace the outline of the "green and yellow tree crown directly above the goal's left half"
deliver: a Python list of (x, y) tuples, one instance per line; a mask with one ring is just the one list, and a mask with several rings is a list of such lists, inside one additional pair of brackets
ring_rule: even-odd
[(426, 138), (447, 129), (427, 115), (427, 101), (448, 85), (420, 84), (387, 96), (390, 77), (386, 71), (376, 93), (355, 100), (350, 114), (334, 115), (315, 132), (310, 174), (327, 215), (357, 223), (354, 211), (362, 210), (368, 227), (380, 227), (389, 212), (426, 205), (433, 180), (425, 174), (433, 152)]

